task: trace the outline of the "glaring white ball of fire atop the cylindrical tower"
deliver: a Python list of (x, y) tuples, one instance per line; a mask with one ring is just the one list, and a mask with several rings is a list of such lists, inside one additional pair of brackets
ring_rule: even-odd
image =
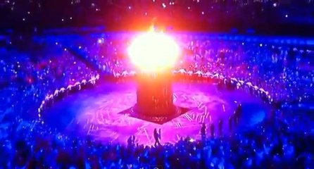
[(151, 30), (133, 39), (128, 54), (140, 70), (157, 72), (175, 65), (180, 48), (172, 37)]

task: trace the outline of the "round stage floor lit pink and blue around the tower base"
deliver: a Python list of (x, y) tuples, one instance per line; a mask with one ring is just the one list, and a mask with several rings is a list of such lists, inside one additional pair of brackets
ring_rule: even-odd
[[(94, 89), (70, 95), (44, 112), (45, 123), (72, 134), (89, 134), (103, 142), (126, 143), (131, 135), (139, 144), (153, 144), (153, 129), (161, 129), (161, 143), (177, 142), (180, 137), (201, 139), (201, 123), (209, 126), (223, 122), (223, 134), (230, 134), (228, 119), (237, 103), (243, 105), (239, 125), (259, 123), (268, 108), (258, 98), (242, 91), (218, 90), (215, 84), (173, 84), (174, 104), (190, 111), (163, 125), (120, 113), (136, 103), (136, 85), (132, 82), (106, 82)], [(56, 121), (58, 119), (58, 121)], [(238, 130), (233, 127), (231, 132)], [(209, 127), (207, 127), (209, 133)], [(218, 133), (218, 132), (216, 132)]]

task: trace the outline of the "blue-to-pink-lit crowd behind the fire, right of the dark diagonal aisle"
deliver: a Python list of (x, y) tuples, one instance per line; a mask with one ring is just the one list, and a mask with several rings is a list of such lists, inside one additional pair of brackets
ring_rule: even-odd
[[(83, 37), (71, 43), (96, 67), (106, 73), (134, 70), (127, 59), (132, 35)], [(294, 103), (313, 98), (313, 56), (308, 46), (263, 44), (201, 37), (178, 36), (182, 58), (177, 70), (210, 71), (252, 82), (270, 92), (278, 101)]]

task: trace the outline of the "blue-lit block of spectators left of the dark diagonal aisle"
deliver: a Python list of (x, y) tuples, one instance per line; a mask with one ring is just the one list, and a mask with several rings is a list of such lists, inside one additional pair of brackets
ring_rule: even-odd
[[(29, 50), (20, 49), (19, 44), (28, 45)], [(0, 52), (2, 110), (15, 115), (32, 114), (47, 94), (96, 74), (67, 49), (49, 41), (20, 39)]]

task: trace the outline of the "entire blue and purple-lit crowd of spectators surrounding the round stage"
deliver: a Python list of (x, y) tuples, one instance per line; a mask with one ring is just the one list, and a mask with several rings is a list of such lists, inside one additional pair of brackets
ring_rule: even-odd
[[(176, 144), (99, 143), (65, 135), (38, 121), (46, 94), (99, 73), (132, 70), (125, 46), (131, 35), (37, 37), (35, 53), (1, 48), (1, 168), (313, 168), (313, 127), (309, 108), (274, 107), (245, 132)], [(279, 44), (226, 42), (177, 37), (182, 58), (176, 69), (219, 73), (251, 82), (281, 105), (313, 99), (313, 51)], [(18, 46), (11, 44), (12, 46)], [(87, 64), (87, 62), (91, 64)], [(92, 66), (95, 65), (95, 66)], [(96, 70), (98, 68), (98, 70)], [(3, 103), (3, 104), (2, 104)], [(25, 117), (27, 116), (27, 117)], [(201, 126), (200, 126), (201, 127)], [(312, 129), (312, 131), (311, 131)]]

